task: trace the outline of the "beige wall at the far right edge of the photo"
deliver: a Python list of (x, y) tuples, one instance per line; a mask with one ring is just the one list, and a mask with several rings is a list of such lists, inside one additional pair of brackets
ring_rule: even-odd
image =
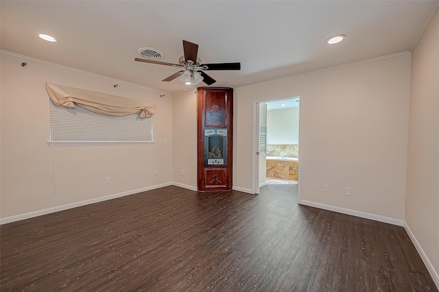
[[(412, 54), (405, 221), (439, 286), (439, 12)], [(422, 253), (421, 253), (422, 255)]]

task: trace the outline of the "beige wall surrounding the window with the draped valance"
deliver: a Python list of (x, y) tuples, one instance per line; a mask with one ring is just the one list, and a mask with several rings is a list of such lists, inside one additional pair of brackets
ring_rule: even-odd
[[(167, 139), (167, 145), (47, 146), (45, 82), (151, 101), (156, 104), (154, 140)], [(119, 86), (114, 88), (116, 83)], [(0, 217), (171, 183), (172, 96), (161, 94), (2, 52)]]

